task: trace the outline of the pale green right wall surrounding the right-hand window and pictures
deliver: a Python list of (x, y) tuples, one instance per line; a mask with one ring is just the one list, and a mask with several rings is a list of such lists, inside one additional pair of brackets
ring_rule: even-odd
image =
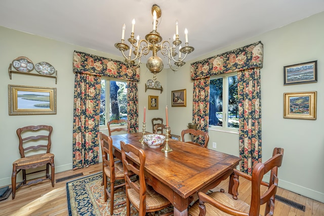
[[(278, 170), (279, 187), (324, 202), (324, 13), (255, 36), (192, 62), (209, 58), (236, 48), (262, 41), (264, 65), (261, 69), (262, 154), (263, 161), (272, 155), (274, 147), (285, 149), (284, 161)], [(215, 35), (217, 39), (217, 35)], [(197, 49), (197, 48), (195, 48)], [(284, 66), (317, 60), (316, 83), (284, 85)], [(180, 134), (192, 120), (193, 82), (190, 63), (177, 73), (168, 74), (168, 105), (171, 91), (187, 89), (187, 107), (172, 108), (174, 134)], [(183, 80), (179, 82), (179, 80)], [(317, 91), (317, 119), (284, 118), (284, 93)], [(209, 130), (209, 148), (217, 143), (217, 151), (238, 156), (238, 135)], [(213, 148), (212, 148), (213, 149)]]

